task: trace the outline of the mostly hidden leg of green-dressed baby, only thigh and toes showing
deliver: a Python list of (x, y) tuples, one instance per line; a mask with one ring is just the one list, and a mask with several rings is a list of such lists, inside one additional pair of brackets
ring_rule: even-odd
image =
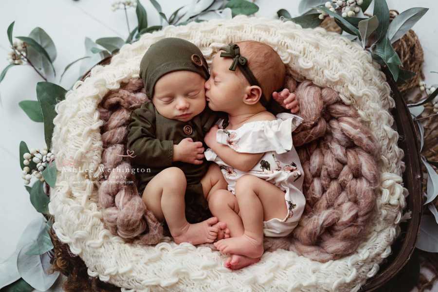
[[(210, 164), (207, 173), (201, 179), (201, 185), (204, 197), (207, 201), (209, 200), (211, 194), (213, 194), (215, 191), (227, 189), (227, 182), (225, 181), (218, 164)], [(227, 229), (227, 223), (227, 221), (222, 221), (219, 219), (219, 222), (214, 225), (214, 227), (219, 228), (218, 237), (216, 238), (217, 240), (230, 237), (230, 231)]]

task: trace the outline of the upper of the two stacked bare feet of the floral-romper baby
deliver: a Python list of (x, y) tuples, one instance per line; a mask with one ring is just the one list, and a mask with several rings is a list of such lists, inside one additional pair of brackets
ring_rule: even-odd
[(213, 244), (223, 254), (237, 254), (251, 258), (257, 258), (263, 254), (263, 239), (257, 240), (246, 234), (222, 239)]

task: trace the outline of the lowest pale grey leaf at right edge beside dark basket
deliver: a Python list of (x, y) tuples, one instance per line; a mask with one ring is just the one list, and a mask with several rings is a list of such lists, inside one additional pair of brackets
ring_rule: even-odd
[(416, 247), (425, 252), (438, 253), (438, 224), (433, 216), (421, 216)]

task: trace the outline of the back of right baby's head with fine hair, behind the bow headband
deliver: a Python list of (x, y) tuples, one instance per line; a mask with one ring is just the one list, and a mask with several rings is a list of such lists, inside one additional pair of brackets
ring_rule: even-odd
[[(246, 40), (237, 42), (237, 45), (240, 54), (248, 59), (248, 66), (269, 101), (272, 93), (284, 85), (286, 67), (280, 56), (273, 48), (262, 42)], [(241, 72), (239, 75), (245, 79)]]

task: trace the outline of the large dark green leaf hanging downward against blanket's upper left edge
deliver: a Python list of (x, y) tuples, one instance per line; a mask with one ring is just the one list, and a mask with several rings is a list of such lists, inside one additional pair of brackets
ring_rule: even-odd
[(64, 100), (67, 91), (50, 82), (37, 83), (37, 99), (41, 106), (41, 111), (44, 119), (44, 137), (47, 148), (52, 148), (53, 119), (56, 116), (55, 105)]

